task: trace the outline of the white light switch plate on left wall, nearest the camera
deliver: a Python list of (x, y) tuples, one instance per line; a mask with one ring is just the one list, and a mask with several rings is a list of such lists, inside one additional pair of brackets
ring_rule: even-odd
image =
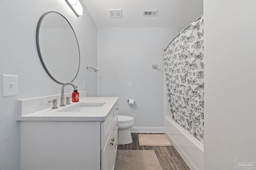
[(18, 95), (18, 76), (2, 75), (2, 96), (17, 96)]

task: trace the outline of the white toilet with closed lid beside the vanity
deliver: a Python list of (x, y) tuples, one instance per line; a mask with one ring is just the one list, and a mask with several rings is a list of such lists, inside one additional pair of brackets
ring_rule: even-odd
[(133, 117), (118, 115), (118, 145), (132, 143), (130, 128), (133, 125)]

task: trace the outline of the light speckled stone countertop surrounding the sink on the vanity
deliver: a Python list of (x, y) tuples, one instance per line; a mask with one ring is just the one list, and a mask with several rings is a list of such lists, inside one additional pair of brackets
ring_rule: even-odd
[[(108, 113), (116, 104), (118, 97), (86, 97), (79, 100), (79, 102), (59, 107), (58, 109), (44, 109), (21, 116), (16, 116), (16, 121), (104, 121)], [(76, 107), (77, 105), (104, 104), (103, 106), (85, 112), (67, 111)]]

